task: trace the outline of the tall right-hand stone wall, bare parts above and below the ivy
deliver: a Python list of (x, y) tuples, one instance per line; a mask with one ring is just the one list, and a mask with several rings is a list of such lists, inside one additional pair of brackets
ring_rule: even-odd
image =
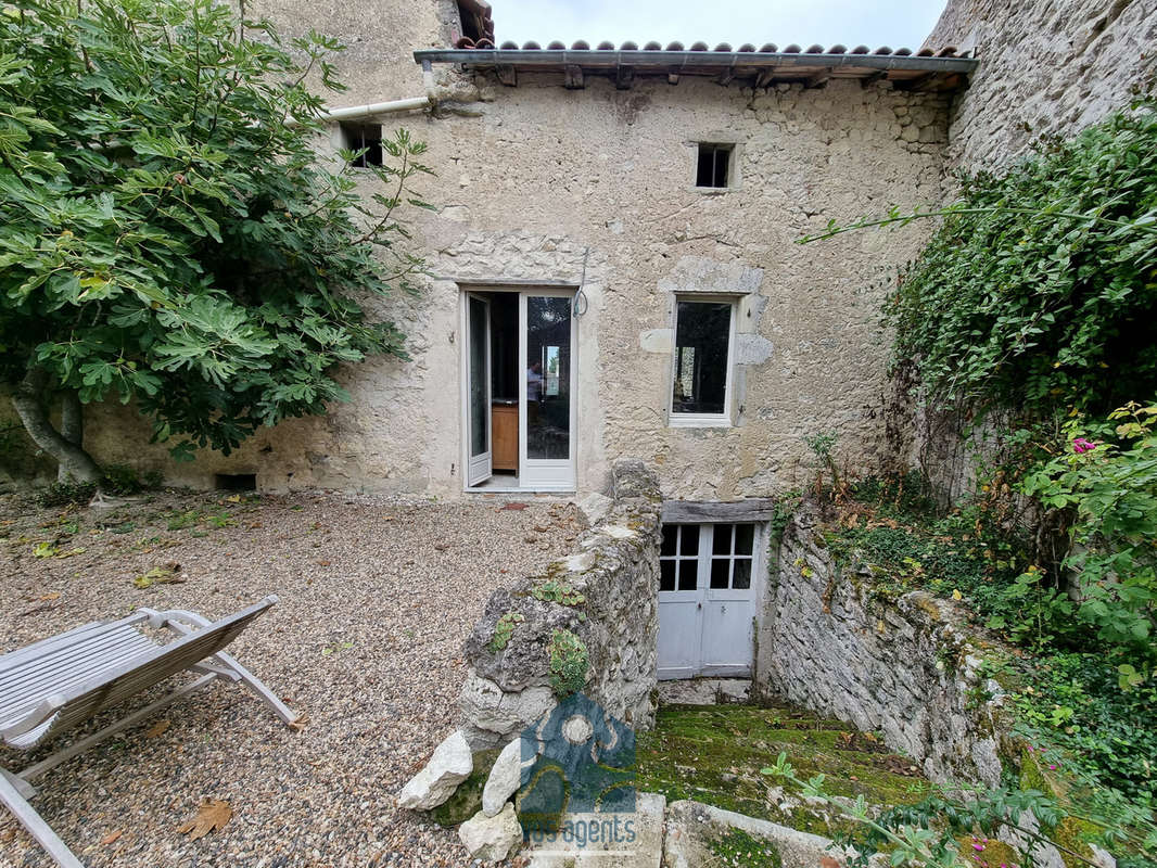
[[(949, 162), (998, 170), (1040, 137), (1071, 137), (1157, 81), (1157, 2), (949, 0), (924, 44), (980, 58), (953, 105)], [(920, 468), (948, 501), (973, 491), (978, 459), (994, 463), (1005, 431), (996, 417), (978, 427), (911, 405), (893, 427), (898, 464)]]

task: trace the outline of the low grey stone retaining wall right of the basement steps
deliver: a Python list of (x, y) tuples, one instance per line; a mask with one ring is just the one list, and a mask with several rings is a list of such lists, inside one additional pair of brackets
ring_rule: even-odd
[(760, 634), (760, 687), (879, 730), (939, 782), (1000, 782), (995, 682), (978, 671), (963, 613), (914, 591), (878, 595), (841, 569), (797, 513), (783, 534)]

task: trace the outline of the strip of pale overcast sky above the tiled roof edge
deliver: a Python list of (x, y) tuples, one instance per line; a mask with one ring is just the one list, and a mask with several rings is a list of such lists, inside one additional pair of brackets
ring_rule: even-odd
[(781, 49), (837, 43), (915, 49), (931, 31), (944, 0), (489, 0), (501, 44), (552, 39), (569, 45), (603, 39), (640, 46), (656, 39), (686, 47), (702, 39), (738, 49), (750, 42)]

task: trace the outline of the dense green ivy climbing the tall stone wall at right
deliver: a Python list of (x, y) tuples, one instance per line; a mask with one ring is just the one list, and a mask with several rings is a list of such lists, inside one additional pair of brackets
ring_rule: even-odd
[(1003, 176), (961, 176), (884, 307), (893, 365), (914, 366), (934, 403), (1107, 412), (1154, 392), (1154, 105), (1049, 141)]

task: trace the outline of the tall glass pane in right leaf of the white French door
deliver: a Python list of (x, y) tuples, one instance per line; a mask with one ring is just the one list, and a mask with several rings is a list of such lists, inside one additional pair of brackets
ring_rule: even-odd
[(526, 457), (570, 457), (570, 299), (526, 296)]

